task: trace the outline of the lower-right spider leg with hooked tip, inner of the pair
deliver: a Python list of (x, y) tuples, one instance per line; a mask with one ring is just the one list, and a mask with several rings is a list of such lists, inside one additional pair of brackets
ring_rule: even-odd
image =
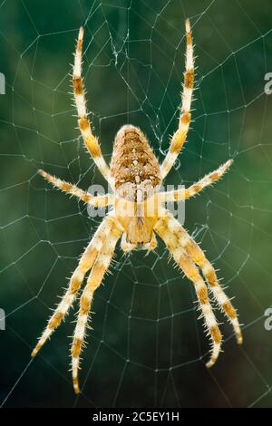
[(203, 278), (199, 274), (198, 267), (195, 266), (195, 264), (190, 259), (184, 248), (180, 246), (179, 238), (176, 236), (175, 232), (173, 232), (173, 230), (170, 228), (168, 218), (160, 218), (154, 229), (161, 237), (161, 239), (165, 242), (166, 246), (170, 251), (170, 254), (176, 261), (177, 265), (180, 266), (180, 269), (195, 286), (196, 294), (199, 299), (199, 308), (202, 311), (205, 323), (207, 325), (208, 333), (212, 342), (210, 359), (209, 362), (206, 363), (207, 367), (211, 367), (214, 363), (216, 363), (219, 357), (222, 335), (219, 331), (219, 326), (217, 324), (216, 317), (213, 314), (212, 307), (209, 303), (207, 286), (205, 285)]

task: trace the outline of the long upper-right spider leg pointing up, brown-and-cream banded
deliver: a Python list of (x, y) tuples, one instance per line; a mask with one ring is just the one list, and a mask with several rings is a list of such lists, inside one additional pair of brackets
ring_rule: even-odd
[(179, 129), (174, 133), (170, 141), (170, 149), (167, 156), (160, 165), (161, 178), (164, 179), (172, 168), (175, 160), (177, 159), (183, 143), (186, 140), (189, 131), (190, 122), (190, 104), (194, 85), (194, 58), (193, 58), (193, 44), (190, 32), (189, 19), (186, 20), (186, 65), (184, 73), (184, 84), (182, 92), (182, 104), (180, 108), (180, 121)]

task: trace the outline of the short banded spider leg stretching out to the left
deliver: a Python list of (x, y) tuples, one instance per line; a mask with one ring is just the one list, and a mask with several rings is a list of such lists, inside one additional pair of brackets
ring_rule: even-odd
[(54, 187), (61, 189), (63, 192), (73, 195), (74, 197), (81, 199), (84, 203), (91, 204), (96, 208), (109, 206), (113, 202), (113, 197), (110, 194), (94, 197), (93, 195), (88, 194), (88, 192), (83, 191), (83, 189), (77, 188), (72, 183), (65, 182), (65, 180), (56, 178), (55, 176), (46, 173), (46, 171), (42, 169), (38, 170), (38, 173), (43, 176), (43, 178), (46, 179), (48, 182), (52, 183)]

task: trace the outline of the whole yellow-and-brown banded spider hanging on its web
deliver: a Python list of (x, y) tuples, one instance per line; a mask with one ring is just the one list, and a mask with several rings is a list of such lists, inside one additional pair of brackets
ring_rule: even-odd
[(39, 173), (54, 187), (79, 198), (84, 203), (96, 208), (112, 206), (112, 209), (103, 218), (91, 242), (85, 248), (70, 279), (68, 289), (49, 318), (44, 333), (32, 353), (34, 357), (61, 324), (76, 299), (84, 276), (90, 271), (80, 298), (80, 309), (73, 334), (72, 372), (73, 388), (76, 393), (80, 392), (78, 381), (80, 354), (83, 349), (83, 339), (88, 325), (93, 295), (102, 284), (103, 276), (109, 269), (114, 249), (120, 238), (121, 248), (126, 253), (136, 247), (148, 251), (153, 250), (157, 246), (156, 234), (165, 242), (170, 255), (195, 288), (199, 309), (211, 340), (208, 367), (217, 361), (222, 341), (217, 319), (209, 302), (208, 289), (232, 324), (238, 344), (242, 343), (236, 310), (219, 285), (213, 266), (194, 239), (181, 227), (180, 222), (165, 208), (166, 202), (179, 202), (191, 198), (219, 180), (229, 169), (232, 160), (228, 160), (219, 169), (212, 171), (188, 189), (159, 191), (160, 184), (177, 159), (189, 131), (190, 104), (194, 84), (194, 58), (188, 19), (185, 28), (186, 70), (181, 95), (179, 127), (170, 140), (170, 149), (165, 159), (159, 164), (149, 141), (141, 130), (132, 125), (124, 125), (116, 134), (110, 167), (103, 159), (99, 142), (92, 133), (92, 123), (88, 120), (82, 77), (83, 28), (79, 31), (73, 63), (73, 94), (78, 112), (79, 129), (86, 148), (103, 177), (110, 183), (113, 193), (92, 196), (71, 183), (55, 178), (44, 170), (39, 170)]

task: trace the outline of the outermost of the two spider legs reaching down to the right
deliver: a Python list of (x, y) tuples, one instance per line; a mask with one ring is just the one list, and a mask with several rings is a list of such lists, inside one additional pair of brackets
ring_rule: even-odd
[(166, 213), (166, 218), (169, 223), (169, 227), (179, 238), (180, 245), (186, 250), (187, 254), (196, 265), (201, 268), (203, 276), (209, 284), (209, 288), (214, 295), (219, 307), (222, 309), (224, 314), (227, 316), (228, 321), (232, 324), (234, 332), (236, 334), (238, 344), (242, 344), (243, 338), (238, 323), (238, 317), (235, 308), (228, 299), (228, 295), (225, 294), (221, 286), (219, 285), (218, 278), (214, 267), (211, 266), (207, 257), (205, 257), (203, 251), (199, 245), (189, 236), (188, 232), (180, 226), (178, 220), (173, 218), (170, 212)]

